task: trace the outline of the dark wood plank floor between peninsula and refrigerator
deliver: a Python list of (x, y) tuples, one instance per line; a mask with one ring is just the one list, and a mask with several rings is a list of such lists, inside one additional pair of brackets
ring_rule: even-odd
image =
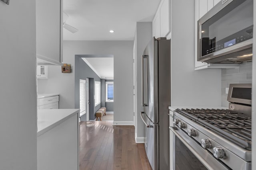
[(80, 122), (80, 170), (151, 170), (133, 126), (111, 121)]

